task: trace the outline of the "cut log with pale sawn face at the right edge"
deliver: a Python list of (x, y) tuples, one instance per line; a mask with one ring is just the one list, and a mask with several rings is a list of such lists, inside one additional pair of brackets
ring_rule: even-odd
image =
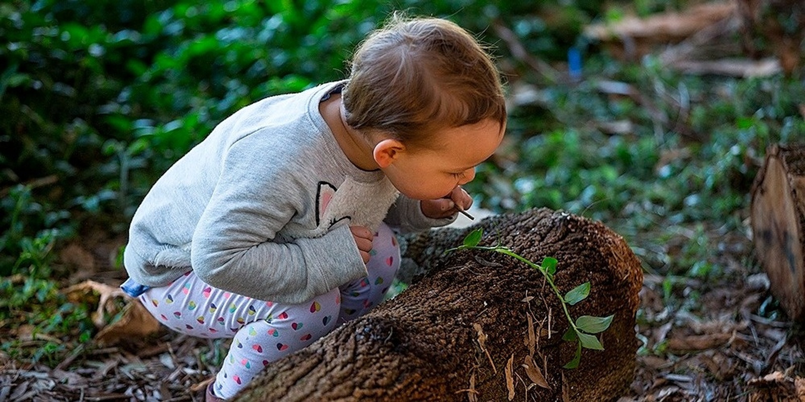
[(752, 233), (771, 292), (805, 320), (805, 145), (770, 146), (752, 187)]

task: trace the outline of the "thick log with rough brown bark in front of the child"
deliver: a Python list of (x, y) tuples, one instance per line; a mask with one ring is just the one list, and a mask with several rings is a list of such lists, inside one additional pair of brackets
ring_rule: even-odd
[[(499, 242), (538, 264), (545, 256), (559, 260), (562, 294), (589, 281), (589, 297), (568, 308), (574, 319), (614, 315), (598, 334), (605, 350), (584, 349), (580, 367), (563, 368), (576, 343), (562, 340), (568, 320), (542, 274), (497, 252), (444, 253), (479, 227), (481, 245)], [(617, 400), (628, 391), (642, 270), (605, 225), (540, 209), (407, 240), (405, 255), (424, 275), (369, 314), (271, 363), (236, 400), (486, 401), (511, 400), (510, 392), (515, 400)]]

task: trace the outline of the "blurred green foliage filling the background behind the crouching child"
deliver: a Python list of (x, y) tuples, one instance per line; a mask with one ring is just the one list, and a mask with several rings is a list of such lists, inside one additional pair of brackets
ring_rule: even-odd
[[(670, 6), (669, 6), (670, 4)], [(592, 0), (40, 0), (0, 4), (0, 333), (23, 324), (62, 343), (0, 351), (57, 361), (89, 341), (93, 306), (59, 292), (56, 250), (126, 224), (151, 184), (213, 126), (254, 100), (346, 75), (345, 60), (392, 10), (450, 18), (494, 46), (511, 81), (537, 88), (510, 109), (508, 142), (468, 190), (494, 211), (565, 209), (625, 236), (651, 272), (727, 274), (720, 238), (745, 232), (749, 186), (771, 143), (802, 137), (801, 82), (682, 76), (646, 57), (609, 58), (584, 24), (677, 2), (604, 9)], [(491, 28), (584, 80), (557, 84), (509, 54)], [(603, 84), (638, 88), (646, 108)], [(517, 85), (515, 85), (517, 84)], [(519, 86), (518, 86), (519, 85)], [(628, 122), (607, 133), (603, 123)], [(676, 155), (671, 157), (670, 155)], [(726, 247), (726, 248), (725, 248)], [(745, 264), (756, 269), (746, 253)], [(120, 268), (120, 267), (118, 267)], [(667, 287), (673, 299), (673, 281)], [(679, 301), (682, 302), (682, 301)], [(4, 336), (0, 338), (6, 339)]]

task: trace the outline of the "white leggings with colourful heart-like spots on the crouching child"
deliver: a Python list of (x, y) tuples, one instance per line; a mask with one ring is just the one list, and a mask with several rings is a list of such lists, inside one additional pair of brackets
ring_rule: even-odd
[(299, 351), (337, 325), (360, 317), (383, 300), (399, 267), (399, 246), (385, 224), (369, 252), (368, 277), (312, 300), (287, 305), (256, 300), (205, 284), (191, 271), (139, 297), (164, 325), (203, 338), (233, 338), (213, 392), (231, 398), (263, 367)]

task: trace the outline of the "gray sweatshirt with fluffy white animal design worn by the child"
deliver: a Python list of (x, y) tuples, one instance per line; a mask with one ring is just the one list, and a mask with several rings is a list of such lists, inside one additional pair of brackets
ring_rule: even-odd
[(349, 162), (319, 112), (339, 84), (246, 106), (171, 166), (132, 219), (131, 279), (163, 286), (192, 269), (220, 289), (300, 303), (366, 276), (349, 225), (452, 222)]

